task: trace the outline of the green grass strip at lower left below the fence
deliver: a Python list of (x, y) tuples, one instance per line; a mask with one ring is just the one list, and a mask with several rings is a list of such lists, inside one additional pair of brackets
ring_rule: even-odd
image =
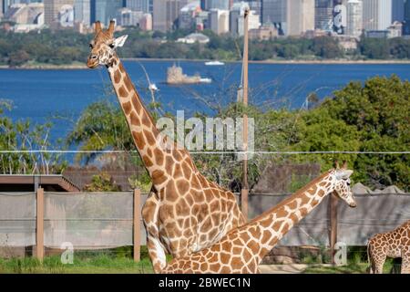
[(0, 258), (0, 274), (151, 274), (148, 253), (142, 248), (141, 261), (134, 262), (127, 251), (75, 252), (73, 264), (63, 264), (60, 255), (46, 256), (41, 263), (34, 257)]

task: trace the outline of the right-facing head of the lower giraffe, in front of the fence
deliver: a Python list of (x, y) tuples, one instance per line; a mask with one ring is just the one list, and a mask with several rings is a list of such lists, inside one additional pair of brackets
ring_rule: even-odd
[(347, 169), (347, 163), (343, 162), (342, 168), (339, 167), (339, 163), (335, 162), (333, 174), (335, 177), (334, 193), (341, 198), (344, 202), (348, 203), (352, 208), (356, 207), (356, 201), (350, 187), (350, 176), (353, 171)]

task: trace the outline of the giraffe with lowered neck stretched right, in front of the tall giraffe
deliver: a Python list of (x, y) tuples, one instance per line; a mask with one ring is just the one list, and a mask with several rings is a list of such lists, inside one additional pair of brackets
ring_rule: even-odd
[(262, 258), (327, 194), (336, 193), (351, 207), (356, 206), (350, 189), (352, 173), (345, 164), (342, 169), (336, 167), (324, 173), (271, 210), (232, 230), (216, 245), (173, 259), (162, 273), (258, 273)]

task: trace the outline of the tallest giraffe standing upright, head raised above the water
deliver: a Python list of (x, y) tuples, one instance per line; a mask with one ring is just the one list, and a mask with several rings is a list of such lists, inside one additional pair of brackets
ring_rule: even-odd
[(149, 257), (159, 273), (166, 266), (166, 253), (181, 257), (200, 251), (244, 224), (245, 219), (234, 194), (209, 182), (195, 167), (190, 153), (177, 148), (156, 128), (116, 53), (127, 36), (114, 38), (113, 21), (107, 30), (99, 22), (95, 28), (87, 67), (108, 68), (132, 138), (152, 180), (142, 216)]

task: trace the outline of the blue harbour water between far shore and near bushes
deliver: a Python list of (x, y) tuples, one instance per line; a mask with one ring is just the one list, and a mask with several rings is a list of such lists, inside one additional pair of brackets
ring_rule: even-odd
[[(204, 62), (179, 61), (187, 75), (200, 74), (211, 83), (170, 86), (165, 83), (167, 68), (173, 61), (126, 61), (128, 74), (146, 103), (152, 99), (149, 80), (159, 91), (155, 100), (164, 110), (185, 116), (196, 111), (212, 114), (215, 109), (236, 100), (241, 80), (241, 63), (205, 66)], [(147, 75), (144, 72), (145, 68)], [(321, 99), (331, 96), (350, 81), (363, 82), (374, 76), (396, 74), (410, 79), (410, 64), (250, 64), (250, 103), (269, 108), (298, 109), (306, 97), (315, 92)], [(105, 68), (74, 70), (0, 70), (0, 99), (13, 102), (6, 113), (13, 120), (30, 119), (45, 122), (52, 119), (55, 126), (52, 140), (65, 138), (87, 105), (99, 99), (117, 102), (110, 94), (111, 83)], [(53, 117), (58, 116), (58, 119)]]

